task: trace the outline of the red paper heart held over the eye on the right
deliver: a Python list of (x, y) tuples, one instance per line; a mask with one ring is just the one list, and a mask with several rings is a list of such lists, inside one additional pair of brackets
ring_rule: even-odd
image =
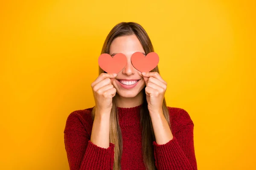
[(159, 62), (157, 53), (151, 52), (146, 57), (141, 52), (135, 52), (131, 56), (132, 65), (140, 72), (149, 72), (153, 70)]

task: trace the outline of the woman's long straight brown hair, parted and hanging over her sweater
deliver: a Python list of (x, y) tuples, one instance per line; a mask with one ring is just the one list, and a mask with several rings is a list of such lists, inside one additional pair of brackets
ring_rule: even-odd
[[(134, 22), (128, 22), (128, 23), (122, 22), (114, 26), (110, 31), (110, 33), (108, 34), (103, 44), (101, 54), (103, 53), (109, 54), (111, 42), (116, 37), (125, 36), (125, 35), (136, 35), (143, 46), (145, 54), (154, 52), (154, 48), (151, 43), (151, 40), (149, 39), (148, 34), (144, 30), (144, 28), (140, 26), (140, 24), (134, 23)], [(152, 70), (151, 72), (159, 73), (158, 66), (154, 68), (154, 70)], [(105, 71), (103, 71), (99, 67), (99, 74), (101, 73), (105, 73)], [(153, 141), (155, 141), (155, 136), (154, 136), (154, 130), (153, 130), (151, 118), (149, 116), (148, 103), (147, 103), (146, 94), (145, 94), (145, 87), (143, 88), (143, 92), (144, 92), (143, 105), (140, 110), (140, 127), (142, 130), (143, 161), (144, 161), (145, 167), (148, 170), (156, 170), (155, 159), (154, 159), (154, 147), (152, 145)], [(169, 119), (169, 111), (166, 106), (165, 99), (163, 99), (163, 115), (165, 116), (169, 124), (169, 127), (171, 127), (170, 119)], [(94, 116), (95, 116), (95, 107), (92, 110), (93, 119), (94, 119)], [(110, 142), (115, 144), (113, 170), (121, 170), (122, 133), (119, 126), (119, 117), (117, 113), (115, 97), (113, 97), (113, 105), (112, 105), (112, 110), (110, 114)]]

